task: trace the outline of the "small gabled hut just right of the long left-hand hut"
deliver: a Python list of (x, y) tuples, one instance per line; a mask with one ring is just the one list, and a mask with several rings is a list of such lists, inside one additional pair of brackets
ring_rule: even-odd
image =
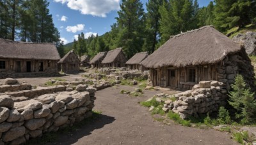
[(79, 72), (80, 60), (77, 57), (74, 50), (70, 50), (63, 58), (58, 62), (59, 69), (65, 73)]

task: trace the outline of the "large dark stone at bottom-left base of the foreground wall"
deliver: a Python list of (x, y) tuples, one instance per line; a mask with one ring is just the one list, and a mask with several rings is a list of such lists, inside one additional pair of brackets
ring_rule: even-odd
[(17, 139), (18, 137), (21, 137), (25, 134), (26, 128), (25, 127), (16, 127), (8, 130), (8, 132), (5, 132), (2, 137), (2, 141), (9, 142), (13, 141), (14, 139)]

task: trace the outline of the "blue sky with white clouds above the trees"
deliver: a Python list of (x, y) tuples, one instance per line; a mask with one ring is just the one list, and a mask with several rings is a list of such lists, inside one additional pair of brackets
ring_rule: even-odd
[[(141, 0), (144, 4), (148, 0)], [(207, 6), (211, 0), (198, 0), (199, 6)], [(111, 30), (116, 22), (121, 0), (49, 0), (49, 10), (61, 40), (66, 44), (74, 41), (77, 34), (102, 35)]]

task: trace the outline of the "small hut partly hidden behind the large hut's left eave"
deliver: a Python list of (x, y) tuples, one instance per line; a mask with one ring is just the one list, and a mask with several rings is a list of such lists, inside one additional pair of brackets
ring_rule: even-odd
[(145, 69), (141, 66), (141, 62), (148, 57), (147, 52), (136, 53), (131, 59), (129, 59), (126, 64), (130, 69), (138, 69), (139, 71), (144, 71)]

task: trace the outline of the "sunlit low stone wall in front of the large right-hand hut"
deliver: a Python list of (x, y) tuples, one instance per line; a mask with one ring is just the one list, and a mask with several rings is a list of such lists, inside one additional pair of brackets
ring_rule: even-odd
[(175, 94), (176, 100), (164, 101), (164, 111), (172, 110), (180, 118), (218, 111), (227, 103), (225, 84), (218, 81), (200, 81), (192, 90)]

